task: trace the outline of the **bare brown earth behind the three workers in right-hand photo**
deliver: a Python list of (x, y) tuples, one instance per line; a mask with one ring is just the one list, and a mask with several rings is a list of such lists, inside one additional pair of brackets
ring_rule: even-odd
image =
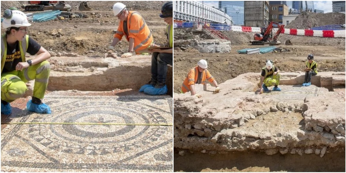
[(237, 50), (260, 47), (248, 45), (253, 33), (233, 31), (224, 31), (223, 33), (231, 39), (230, 53), (199, 53), (196, 49), (189, 47), (188, 43), (189, 39), (199, 40), (200, 37), (204, 37), (201, 32), (193, 29), (192, 31), (191, 29), (174, 30), (175, 40), (187, 40), (187, 46), (179, 46), (174, 50), (174, 92), (179, 92), (188, 71), (196, 66), (201, 59), (207, 60), (208, 70), (218, 83), (233, 79), (239, 74), (249, 72), (259, 74), (266, 59), (273, 60), (275, 66), (281, 71), (301, 71), (305, 66), (304, 61), (306, 61), (307, 55), (311, 53), (315, 56), (319, 71), (345, 71), (345, 38), (281, 34), (279, 36), (280, 42), (291, 39), (294, 45), (278, 45), (277, 47), (289, 49), (289, 52), (244, 55), (238, 54)]

